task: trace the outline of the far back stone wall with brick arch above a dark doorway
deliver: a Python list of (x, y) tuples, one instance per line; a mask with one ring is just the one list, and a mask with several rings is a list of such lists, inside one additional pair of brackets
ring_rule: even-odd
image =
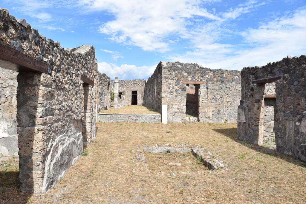
[[(114, 91), (114, 83), (112, 80), (110, 82), (110, 91)], [(137, 105), (142, 105), (144, 100), (144, 86), (146, 80), (144, 79), (134, 79), (134, 80), (119, 80), (119, 93), (122, 92), (121, 98), (117, 98), (118, 105), (117, 107), (124, 107), (131, 105), (132, 102), (132, 91), (137, 91)]]

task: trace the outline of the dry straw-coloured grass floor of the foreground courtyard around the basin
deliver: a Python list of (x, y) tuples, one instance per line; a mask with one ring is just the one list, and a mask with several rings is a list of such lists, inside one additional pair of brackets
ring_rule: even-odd
[[(173, 169), (176, 167), (169, 169), (165, 163), (185, 157), (187, 161), (183, 159), (181, 163), (186, 168), (189, 161), (196, 161), (190, 155), (173, 158), (149, 155), (147, 163), (151, 172), (132, 172), (138, 145), (166, 143), (199, 144), (231, 168), (186, 174)], [(30, 198), (19, 193), (18, 163), (12, 161), (6, 170), (0, 165), (0, 203), (297, 204), (306, 201), (306, 164), (237, 139), (237, 124), (99, 123), (97, 138), (87, 151), (88, 156), (81, 156), (46, 194)], [(202, 168), (194, 163), (189, 165), (189, 170)], [(166, 173), (176, 170), (175, 175)]]

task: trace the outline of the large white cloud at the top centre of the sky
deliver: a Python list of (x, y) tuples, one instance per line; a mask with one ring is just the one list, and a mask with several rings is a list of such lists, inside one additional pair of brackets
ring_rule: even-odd
[(83, 0), (83, 5), (92, 11), (106, 10), (115, 16), (99, 27), (99, 32), (110, 35), (109, 39), (126, 45), (135, 45), (143, 50), (166, 52), (172, 34), (185, 38), (188, 35), (188, 19), (201, 16), (210, 20), (220, 17), (200, 7), (200, 0)]

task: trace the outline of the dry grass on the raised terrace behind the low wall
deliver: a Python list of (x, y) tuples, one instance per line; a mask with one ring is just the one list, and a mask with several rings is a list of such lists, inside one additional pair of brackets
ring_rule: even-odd
[(159, 114), (158, 111), (149, 109), (145, 106), (129, 105), (121, 108), (111, 107), (108, 110), (100, 111), (99, 113), (126, 113), (126, 114)]

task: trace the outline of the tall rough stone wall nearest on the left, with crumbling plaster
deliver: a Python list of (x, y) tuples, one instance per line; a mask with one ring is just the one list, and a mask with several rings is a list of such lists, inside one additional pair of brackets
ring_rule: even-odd
[(95, 138), (97, 87), (81, 81), (82, 75), (95, 80), (95, 49), (64, 49), (6, 9), (0, 9), (0, 43), (47, 64), (47, 74), (17, 77), (20, 188), (46, 192)]

